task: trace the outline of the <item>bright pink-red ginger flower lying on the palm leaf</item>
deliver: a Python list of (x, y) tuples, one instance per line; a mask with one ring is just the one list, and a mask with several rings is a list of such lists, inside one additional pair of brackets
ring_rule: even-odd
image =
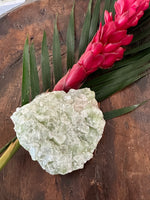
[(133, 35), (127, 34), (127, 29), (136, 26), (149, 7), (150, 0), (118, 0), (115, 2), (115, 17), (105, 11), (105, 24), (100, 23), (99, 30), (87, 46), (79, 61), (56, 84), (54, 90), (69, 91), (78, 89), (87, 76), (98, 68), (112, 67), (115, 61), (123, 58), (125, 49), (122, 46), (130, 44)]

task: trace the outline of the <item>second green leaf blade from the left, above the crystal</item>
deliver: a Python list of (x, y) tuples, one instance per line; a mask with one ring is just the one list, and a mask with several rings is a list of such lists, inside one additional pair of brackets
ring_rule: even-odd
[(30, 81), (31, 81), (31, 95), (34, 99), (39, 93), (39, 77), (36, 66), (36, 58), (33, 43), (30, 46)]

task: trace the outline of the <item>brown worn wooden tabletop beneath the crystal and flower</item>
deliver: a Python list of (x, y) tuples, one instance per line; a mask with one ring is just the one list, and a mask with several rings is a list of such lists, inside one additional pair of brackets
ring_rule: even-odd
[[(87, 0), (75, 8), (78, 41)], [(22, 50), (26, 35), (34, 40), (37, 62), (43, 30), (51, 57), (53, 23), (58, 13), (62, 54), (73, 0), (44, 0), (23, 6), (0, 19), (0, 147), (15, 133), (10, 115), (20, 105)], [(103, 111), (150, 98), (150, 78), (141, 79), (101, 104)], [(0, 200), (149, 200), (150, 103), (107, 121), (94, 157), (85, 168), (51, 176), (21, 148), (0, 172)]]

